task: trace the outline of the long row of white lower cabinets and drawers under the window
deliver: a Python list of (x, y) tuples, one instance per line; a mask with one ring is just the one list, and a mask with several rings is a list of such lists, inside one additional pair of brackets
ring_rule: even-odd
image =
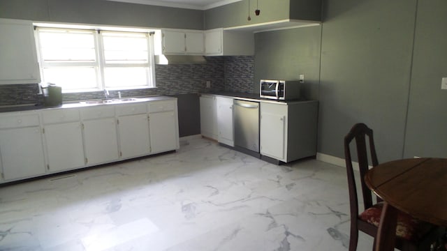
[(176, 98), (0, 113), (0, 183), (179, 149)]

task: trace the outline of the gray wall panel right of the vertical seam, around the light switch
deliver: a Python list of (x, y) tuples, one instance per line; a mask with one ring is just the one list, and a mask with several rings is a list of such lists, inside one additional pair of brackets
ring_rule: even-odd
[(447, 1), (419, 0), (404, 156), (447, 157)]

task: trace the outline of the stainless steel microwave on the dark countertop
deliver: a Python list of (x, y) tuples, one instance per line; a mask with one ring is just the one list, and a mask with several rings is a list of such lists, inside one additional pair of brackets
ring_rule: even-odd
[(261, 79), (259, 97), (275, 100), (298, 99), (300, 98), (300, 82)]

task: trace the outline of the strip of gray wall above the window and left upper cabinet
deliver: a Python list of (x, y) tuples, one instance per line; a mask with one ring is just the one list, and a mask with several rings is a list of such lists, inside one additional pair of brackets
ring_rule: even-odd
[(0, 0), (0, 17), (47, 22), (203, 29), (203, 11), (105, 0)]

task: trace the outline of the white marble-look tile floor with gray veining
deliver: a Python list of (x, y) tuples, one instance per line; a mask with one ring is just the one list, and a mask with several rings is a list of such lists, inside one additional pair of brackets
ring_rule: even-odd
[[(0, 250), (347, 250), (346, 171), (200, 137), (176, 153), (0, 188)], [(358, 250), (372, 250), (360, 233)]]

